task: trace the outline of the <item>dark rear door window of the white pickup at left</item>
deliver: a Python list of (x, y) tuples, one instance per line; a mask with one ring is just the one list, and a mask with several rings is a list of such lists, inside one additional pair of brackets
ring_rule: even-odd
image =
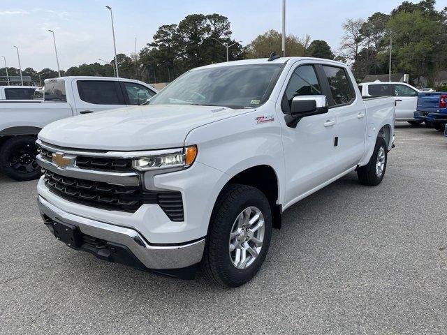
[(118, 82), (112, 80), (78, 80), (77, 85), (79, 97), (86, 103), (124, 105), (124, 98)]

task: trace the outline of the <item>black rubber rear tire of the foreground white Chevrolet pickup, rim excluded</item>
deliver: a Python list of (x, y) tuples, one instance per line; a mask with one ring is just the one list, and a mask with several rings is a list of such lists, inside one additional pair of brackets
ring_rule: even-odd
[[(379, 151), (381, 152), (381, 154), (383, 153), (384, 155), (383, 170), (380, 175), (376, 171)], [(360, 183), (367, 186), (379, 185), (383, 179), (383, 176), (385, 175), (387, 161), (388, 150), (386, 147), (386, 142), (383, 137), (377, 137), (376, 146), (374, 147), (374, 151), (371, 158), (369, 159), (369, 162), (367, 163), (367, 165), (357, 169), (357, 176)]]

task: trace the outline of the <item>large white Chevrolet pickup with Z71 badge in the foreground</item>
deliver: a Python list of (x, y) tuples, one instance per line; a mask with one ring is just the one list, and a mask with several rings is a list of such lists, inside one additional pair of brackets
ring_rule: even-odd
[(234, 287), (295, 202), (353, 171), (381, 183), (394, 118), (394, 99), (364, 100), (337, 61), (204, 66), (148, 105), (43, 128), (38, 207), (71, 248), (182, 278), (200, 263)]

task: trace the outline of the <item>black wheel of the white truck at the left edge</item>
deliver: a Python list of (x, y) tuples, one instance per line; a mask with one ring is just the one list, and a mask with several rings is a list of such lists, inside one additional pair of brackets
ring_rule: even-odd
[(0, 170), (17, 181), (38, 179), (41, 168), (36, 156), (36, 137), (11, 137), (0, 148)]

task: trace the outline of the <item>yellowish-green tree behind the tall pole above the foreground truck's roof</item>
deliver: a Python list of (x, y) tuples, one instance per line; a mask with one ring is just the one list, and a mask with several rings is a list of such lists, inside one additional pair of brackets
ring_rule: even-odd
[[(272, 52), (281, 54), (281, 43), (282, 35), (278, 31), (270, 29), (247, 45), (247, 58), (265, 58), (269, 57)], [(301, 40), (293, 35), (286, 36), (286, 55), (304, 56), (304, 54), (305, 46)]]

